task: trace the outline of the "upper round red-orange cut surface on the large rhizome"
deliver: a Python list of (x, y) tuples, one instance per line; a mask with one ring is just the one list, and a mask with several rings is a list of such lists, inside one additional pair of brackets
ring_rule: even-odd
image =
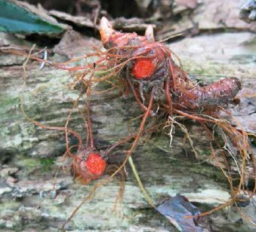
[(137, 59), (132, 66), (132, 74), (134, 75), (134, 78), (137, 79), (149, 78), (153, 75), (154, 71), (155, 66), (153, 65), (152, 60), (147, 58)]

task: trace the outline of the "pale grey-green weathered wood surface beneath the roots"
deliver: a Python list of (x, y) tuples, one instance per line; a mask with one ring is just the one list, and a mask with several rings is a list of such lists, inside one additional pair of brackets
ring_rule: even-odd
[[(245, 32), (201, 35), (170, 44), (171, 50), (184, 63), (184, 69), (196, 78), (211, 82), (221, 77), (236, 76), (245, 87), (253, 87), (252, 82), (256, 75), (253, 47), (254, 36)], [(7, 54), (1, 56), (7, 60), (13, 59), (13, 56)], [(60, 60), (63, 57), (55, 56), (53, 59)], [(0, 228), (58, 230), (95, 182), (80, 185), (72, 181), (68, 170), (64, 170), (58, 173), (55, 191), (51, 192), (57, 166), (54, 161), (65, 151), (65, 138), (63, 133), (42, 130), (23, 117), (20, 111), (22, 62), (23, 60), (5, 60), (0, 72)], [(10, 66), (6, 66), (7, 63)], [(72, 82), (69, 72), (50, 66), (42, 71), (38, 68), (39, 64), (35, 62), (27, 66), (25, 111), (36, 121), (63, 126), (72, 108), (72, 101), (79, 95), (79, 91), (67, 87)], [(84, 100), (81, 100), (80, 107), (83, 104)], [(106, 145), (127, 136), (130, 130), (136, 131), (139, 121), (130, 121), (130, 124), (127, 122), (139, 114), (140, 109), (132, 98), (125, 99), (114, 92), (96, 96), (92, 101), (96, 146), (106, 148)], [(72, 115), (70, 127), (85, 138), (84, 123), (78, 111)], [(205, 134), (200, 127), (188, 127), (195, 139), (196, 150), (207, 157), (209, 152), (203, 138)], [(221, 170), (207, 163), (198, 163), (189, 145), (185, 146), (188, 151), (186, 155), (182, 137), (182, 133), (177, 130), (173, 147), (170, 148), (169, 137), (159, 134), (144, 145), (140, 144), (134, 152), (134, 162), (150, 196), (158, 204), (168, 196), (184, 194), (201, 211), (224, 203), (229, 197), (229, 186)], [(71, 143), (75, 142), (71, 138)], [(82, 206), (67, 228), (174, 230), (166, 218), (157, 214), (145, 202), (129, 167), (123, 208), (120, 209), (123, 217), (113, 212), (118, 190), (118, 179), (98, 189), (94, 198)], [(245, 209), (250, 216), (253, 215), (254, 209), (251, 206)], [(202, 218), (202, 224), (208, 230), (252, 230), (246, 221), (240, 220), (234, 209), (225, 209)]]

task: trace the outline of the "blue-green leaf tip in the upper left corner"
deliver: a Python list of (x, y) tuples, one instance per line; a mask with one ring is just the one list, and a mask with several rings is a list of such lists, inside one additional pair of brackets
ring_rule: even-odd
[(12, 2), (0, 0), (0, 31), (13, 33), (60, 34), (63, 28), (49, 23)]

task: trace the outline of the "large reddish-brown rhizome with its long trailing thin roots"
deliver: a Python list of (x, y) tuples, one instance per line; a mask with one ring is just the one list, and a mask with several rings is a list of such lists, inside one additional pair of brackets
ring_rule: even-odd
[[(89, 53), (85, 56), (80, 56), (75, 59), (66, 61), (64, 63), (53, 63), (47, 60), (47, 58), (45, 59), (39, 58), (38, 54), (42, 52), (42, 50), (40, 50), (39, 52), (32, 53), (32, 51), (35, 49), (35, 45), (29, 50), (29, 53), (24, 53), (23, 51), (20, 51), (20, 50), (3, 50), (4, 52), (11, 52), (19, 56), (24, 56), (26, 58), (25, 62), (23, 63), (24, 83), (23, 83), (22, 94), (20, 97), (21, 111), (23, 112), (24, 117), (28, 121), (32, 122), (32, 124), (35, 124), (43, 129), (60, 130), (65, 132), (66, 152), (63, 155), (63, 159), (65, 159), (67, 155), (69, 155), (73, 159), (76, 158), (76, 155), (72, 154), (71, 152), (71, 148), (73, 147), (72, 146), (69, 147), (69, 134), (72, 134), (79, 140), (79, 145), (77, 145), (78, 150), (82, 147), (83, 142), (82, 142), (81, 136), (79, 135), (79, 133), (76, 133), (73, 130), (70, 130), (68, 126), (69, 126), (69, 121), (72, 118), (72, 112), (74, 111), (75, 108), (78, 107), (78, 102), (80, 97), (84, 93), (87, 93), (87, 96), (89, 98), (92, 94), (91, 88), (94, 84), (97, 84), (100, 82), (106, 82), (111, 85), (111, 87), (108, 90), (103, 90), (100, 92), (95, 91), (94, 94), (106, 93), (116, 88), (122, 91), (122, 87), (123, 87), (122, 85), (125, 85), (125, 93), (128, 94), (128, 90), (130, 90), (137, 104), (140, 106), (140, 108), (144, 112), (143, 118), (140, 121), (139, 130), (137, 131), (137, 133), (131, 136), (127, 136), (125, 139), (120, 140), (119, 142), (111, 146), (106, 151), (106, 156), (108, 156), (110, 155), (110, 152), (112, 152), (119, 145), (122, 145), (123, 143), (133, 139), (130, 149), (126, 152), (125, 160), (122, 163), (122, 165), (120, 165), (107, 179), (104, 179), (103, 181), (98, 182), (96, 185), (94, 185), (93, 188), (91, 188), (91, 191), (89, 191), (88, 195), (82, 200), (82, 203), (80, 203), (79, 206), (77, 206), (76, 209), (73, 210), (72, 214), (69, 215), (69, 218), (67, 218), (67, 220), (64, 222), (63, 229), (65, 228), (66, 224), (71, 220), (73, 215), (75, 215), (76, 212), (79, 211), (81, 206), (86, 201), (90, 200), (91, 197), (93, 197), (94, 192), (97, 190), (97, 188), (100, 188), (101, 186), (108, 183), (111, 179), (113, 179), (113, 177), (116, 176), (117, 173), (120, 173), (120, 171), (125, 169), (125, 164), (127, 162), (131, 164), (131, 168), (134, 172), (134, 176), (137, 179), (138, 185), (140, 186), (140, 189), (143, 192), (146, 200), (151, 206), (156, 208), (153, 204), (153, 200), (151, 200), (149, 194), (147, 194), (147, 191), (143, 187), (143, 184), (140, 181), (140, 177), (137, 174), (137, 170), (131, 158), (131, 154), (134, 152), (134, 149), (137, 147), (137, 143), (140, 141), (140, 138), (143, 135), (143, 133), (147, 131), (152, 132), (157, 128), (157, 127), (153, 127), (153, 130), (152, 128), (145, 130), (144, 127), (147, 122), (147, 119), (150, 116), (156, 116), (156, 114), (152, 110), (156, 106), (154, 105), (153, 99), (155, 98), (155, 89), (158, 86), (156, 86), (155, 83), (157, 83), (157, 81), (159, 81), (162, 78), (162, 77), (159, 77), (159, 80), (155, 80), (153, 77), (153, 81), (152, 81), (153, 83), (146, 81), (148, 83), (148, 86), (145, 89), (147, 89), (148, 96), (146, 96), (145, 94), (146, 97), (144, 99), (143, 87), (141, 83), (136, 82), (136, 80), (135, 82), (131, 81), (131, 79), (128, 77), (128, 75), (131, 75), (130, 73), (128, 73), (128, 71), (130, 70), (131, 68), (130, 66), (134, 62), (134, 60), (145, 58), (145, 57), (147, 58), (150, 57), (150, 59), (154, 58), (152, 57), (152, 55), (150, 56), (150, 49), (152, 48), (150, 46), (152, 46), (152, 44), (148, 46), (147, 46), (147, 43), (141, 43), (141, 44), (137, 44), (136, 46), (135, 45), (130, 46), (129, 44), (125, 46), (116, 46), (116, 47), (111, 47), (109, 48), (109, 50), (106, 50), (106, 51), (102, 51), (95, 48), (94, 53)], [(239, 200), (239, 194), (241, 194), (242, 191), (246, 189), (247, 179), (254, 178), (254, 183), (256, 183), (256, 173), (255, 173), (256, 163), (255, 163), (253, 150), (248, 144), (249, 134), (242, 129), (242, 127), (239, 125), (236, 119), (233, 118), (233, 116), (228, 111), (220, 107), (220, 105), (223, 105), (222, 103), (225, 103), (228, 100), (227, 99), (228, 97), (232, 98), (233, 95), (237, 93), (237, 91), (240, 89), (241, 86), (239, 86), (239, 81), (236, 78), (230, 78), (230, 79), (227, 79), (226, 81), (218, 81), (217, 83), (211, 84), (208, 87), (204, 87), (204, 88), (198, 87), (196, 86), (196, 84), (190, 81), (190, 79), (187, 77), (187, 74), (183, 72), (179, 58), (171, 50), (168, 50), (168, 48), (164, 46), (160, 46), (159, 50), (162, 50), (162, 52), (165, 53), (165, 56), (164, 56), (165, 63), (162, 60), (162, 64), (161, 63), (157, 63), (157, 64), (159, 66), (161, 65), (163, 66), (164, 64), (167, 64), (168, 69), (165, 69), (165, 71), (168, 70), (168, 74), (164, 78), (162, 85), (159, 85), (161, 88), (164, 88), (163, 92), (165, 93), (165, 99), (159, 100), (159, 102), (156, 102), (156, 104), (161, 105), (160, 109), (162, 111), (168, 112), (168, 115), (169, 115), (168, 121), (166, 121), (165, 125), (162, 125), (162, 126), (164, 128), (167, 128), (167, 127), (170, 128), (169, 130), (170, 147), (173, 141), (174, 130), (175, 130), (175, 127), (177, 126), (185, 134), (186, 138), (190, 142), (191, 148), (196, 158), (199, 159), (199, 154), (196, 152), (196, 149), (193, 146), (193, 140), (191, 139), (191, 136), (189, 131), (187, 130), (187, 127), (185, 127), (184, 124), (181, 124), (178, 121), (178, 119), (185, 118), (185, 119), (190, 119), (199, 123), (202, 126), (202, 128), (204, 128), (205, 132), (208, 135), (209, 145), (211, 148), (211, 158), (217, 160), (219, 168), (224, 173), (224, 176), (226, 176), (227, 181), (230, 184), (231, 199), (227, 203), (224, 203), (221, 206), (217, 206), (216, 208), (211, 209), (208, 212), (204, 212), (201, 215), (208, 215), (214, 211), (217, 211), (226, 206), (229, 206), (232, 203), (236, 204), (236, 201)], [(174, 64), (174, 61), (172, 60), (172, 56), (175, 56), (177, 60), (179, 60), (180, 67)], [(86, 66), (72, 66), (72, 63), (78, 60), (86, 59), (88, 57), (95, 57), (97, 58), (97, 60), (94, 63), (88, 63)], [(75, 86), (78, 83), (83, 84), (84, 92), (82, 92), (81, 95), (76, 99), (76, 101), (73, 102), (73, 107), (69, 111), (69, 114), (66, 118), (66, 124), (64, 127), (50, 127), (50, 126), (41, 124), (33, 120), (32, 118), (29, 118), (29, 116), (24, 111), (23, 93), (26, 87), (26, 78), (27, 78), (26, 65), (29, 60), (37, 60), (40, 63), (45, 63), (49, 66), (53, 66), (58, 69), (67, 70), (69, 72), (76, 72), (72, 85)], [(126, 78), (124, 78), (123, 76), (124, 72), (125, 72), (125, 75), (127, 75)], [(118, 80), (118, 77), (122, 78), (121, 80), (119, 80), (121, 85), (115, 83), (115, 81)], [(216, 91), (215, 92), (212, 91), (211, 87), (212, 89), (215, 88)], [(225, 92), (227, 94), (221, 94), (222, 92)], [(202, 95), (204, 95), (204, 97), (202, 97)], [(213, 105), (211, 105), (211, 102), (214, 99), (215, 101)], [(88, 104), (89, 104), (89, 100), (90, 99), (88, 99)], [(148, 105), (145, 105), (144, 102), (148, 102)], [(202, 111), (198, 112), (201, 109)], [(230, 116), (233, 119), (233, 121), (236, 122), (236, 126), (238, 127), (238, 129), (236, 127), (233, 127), (233, 125), (229, 121), (224, 121), (223, 119), (219, 118), (218, 111), (220, 110), (224, 111), (228, 116)], [(87, 115), (88, 115), (87, 120), (83, 116), (82, 111), (79, 109), (79, 112), (82, 115), (82, 118), (85, 121), (85, 126), (87, 128), (86, 147), (88, 147), (89, 145), (91, 148), (94, 148), (94, 139), (93, 139), (93, 133), (91, 128), (89, 105), (87, 105), (87, 108), (85, 109), (85, 111), (87, 111)], [(177, 114), (178, 116), (173, 116), (173, 114)], [(237, 152), (233, 151), (232, 146), (236, 148)], [(223, 163), (219, 162), (219, 160), (217, 159), (220, 156), (223, 159)], [(235, 171), (239, 173), (239, 183), (237, 185), (234, 184), (234, 181), (235, 181), (234, 170), (230, 167), (229, 157), (231, 157), (233, 162), (235, 163), (235, 166), (236, 166)], [(72, 163), (72, 165), (73, 165), (73, 169), (76, 169), (74, 162)], [(252, 166), (251, 169), (249, 165)], [(124, 191), (124, 186), (121, 186), (115, 206), (118, 202), (122, 200), (123, 191)], [(256, 191), (256, 185), (254, 185), (253, 191), (251, 192), (248, 191), (248, 194), (250, 194), (250, 197), (253, 197), (255, 191)], [(242, 215), (242, 212), (241, 210), (239, 210), (238, 206), (237, 206), (237, 209)], [(242, 215), (242, 216), (246, 218), (245, 215)], [(248, 221), (250, 220), (248, 219)]]

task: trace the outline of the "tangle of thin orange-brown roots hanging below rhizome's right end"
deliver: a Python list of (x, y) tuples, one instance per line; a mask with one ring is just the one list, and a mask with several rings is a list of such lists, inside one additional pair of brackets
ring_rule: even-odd
[[(239, 201), (239, 195), (242, 193), (242, 191), (244, 191), (244, 189), (246, 189), (245, 176), (248, 176), (248, 178), (254, 179), (254, 189), (251, 192), (248, 191), (250, 198), (253, 197), (255, 193), (255, 186), (256, 186), (255, 185), (256, 183), (255, 167), (256, 166), (255, 166), (255, 160), (254, 160), (254, 153), (252, 148), (248, 144), (248, 133), (246, 133), (245, 130), (242, 130), (242, 127), (239, 125), (236, 119), (233, 118), (230, 112), (222, 109), (222, 111), (226, 112), (233, 119), (233, 121), (236, 121), (236, 127), (238, 127), (239, 129), (236, 129), (236, 127), (233, 127), (233, 125), (229, 121), (225, 121), (219, 118), (214, 118), (207, 114), (199, 114), (199, 115), (188, 114), (188, 113), (185, 113), (184, 111), (180, 111), (177, 109), (174, 109), (174, 111), (177, 114), (180, 114), (181, 116), (183, 116), (184, 118), (193, 119), (194, 121), (199, 122), (199, 124), (202, 125), (202, 127), (205, 129), (206, 133), (208, 134), (211, 153), (213, 154), (212, 158), (217, 159), (217, 155), (221, 154), (224, 160), (224, 165), (226, 166), (226, 169), (224, 169), (220, 164), (219, 168), (224, 173), (224, 176), (226, 176), (227, 181), (230, 184), (231, 200), (229, 200), (227, 203), (224, 203), (221, 206), (217, 206), (214, 209), (209, 210), (208, 212), (202, 213), (200, 216), (209, 215), (212, 212), (215, 212), (226, 206), (230, 206), (230, 204), (236, 203), (237, 201)], [(190, 141), (190, 145), (193, 148), (193, 141), (190, 138), (187, 128), (183, 124), (180, 124), (179, 122), (176, 121), (176, 119), (179, 117), (180, 116), (176, 116), (173, 118), (169, 117), (165, 125), (165, 127), (170, 127), (170, 132), (169, 132), (170, 145), (171, 145), (172, 137), (174, 133), (174, 124), (177, 124), (177, 126), (180, 127), (180, 129), (187, 135), (187, 138)], [(209, 130), (207, 125), (210, 125), (210, 127), (212, 127), (213, 130), (212, 131)], [(217, 136), (221, 136), (223, 145), (221, 145), (220, 142), (218, 142), (217, 136), (214, 135), (214, 131), (216, 130), (218, 132)], [(217, 150), (214, 150), (213, 145), (211, 144), (212, 142), (214, 142), (215, 145), (217, 145)], [(229, 144), (232, 144), (237, 149), (239, 156), (237, 156), (237, 154), (234, 153), (232, 149), (230, 149)], [(195, 152), (194, 148), (193, 148), (193, 151)], [(196, 157), (199, 157), (199, 155), (197, 154)], [(236, 186), (233, 183), (234, 182), (233, 175), (232, 175), (233, 170), (230, 168), (230, 163), (227, 161), (227, 157), (232, 157), (233, 162), (235, 163), (235, 166), (236, 166), (236, 172), (239, 173), (239, 183)], [(248, 170), (247, 163), (251, 163), (251, 171)], [(251, 219), (249, 219), (247, 216), (242, 215), (241, 210), (238, 210), (238, 212), (243, 218), (245, 218), (248, 221), (251, 221)]]

